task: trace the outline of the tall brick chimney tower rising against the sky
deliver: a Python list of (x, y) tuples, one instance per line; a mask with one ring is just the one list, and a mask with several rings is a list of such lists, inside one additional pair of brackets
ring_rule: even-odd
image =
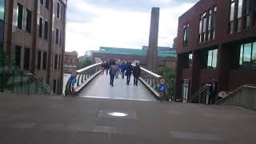
[(147, 69), (153, 72), (158, 70), (158, 26), (160, 8), (153, 7), (150, 21), (150, 41), (147, 51)]

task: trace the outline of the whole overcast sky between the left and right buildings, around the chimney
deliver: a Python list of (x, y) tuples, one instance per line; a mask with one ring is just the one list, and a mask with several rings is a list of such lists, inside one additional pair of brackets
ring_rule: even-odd
[(141, 48), (148, 45), (150, 13), (160, 7), (158, 46), (173, 45), (178, 17), (198, 0), (69, 0), (66, 51), (78, 55), (99, 46)]

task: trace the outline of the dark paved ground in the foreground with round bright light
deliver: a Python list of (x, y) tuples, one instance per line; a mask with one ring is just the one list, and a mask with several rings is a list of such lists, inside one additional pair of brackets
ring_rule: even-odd
[(255, 122), (231, 106), (0, 95), (1, 144), (250, 144)]

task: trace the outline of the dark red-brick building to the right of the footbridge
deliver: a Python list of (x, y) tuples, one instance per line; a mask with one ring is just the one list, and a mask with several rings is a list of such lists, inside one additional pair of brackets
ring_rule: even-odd
[(176, 98), (218, 82), (218, 92), (256, 84), (256, 1), (201, 0), (178, 19)]

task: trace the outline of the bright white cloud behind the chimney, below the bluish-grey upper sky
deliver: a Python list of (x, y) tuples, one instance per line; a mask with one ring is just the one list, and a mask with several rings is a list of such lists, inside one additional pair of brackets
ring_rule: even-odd
[[(148, 45), (150, 10), (122, 11), (92, 6), (82, 0), (70, 2), (73, 2), (71, 5), (81, 14), (93, 14), (94, 17), (90, 18), (89, 22), (67, 22), (67, 51), (77, 50), (78, 54), (82, 55), (86, 50), (98, 50), (99, 46), (141, 48), (142, 45)], [(192, 5), (185, 3), (160, 10), (158, 46), (172, 46), (177, 34), (178, 16)], [(69, 14), (67, 16), (69, 17)], [(80, 17), (82, 18), (83, 15)]]

